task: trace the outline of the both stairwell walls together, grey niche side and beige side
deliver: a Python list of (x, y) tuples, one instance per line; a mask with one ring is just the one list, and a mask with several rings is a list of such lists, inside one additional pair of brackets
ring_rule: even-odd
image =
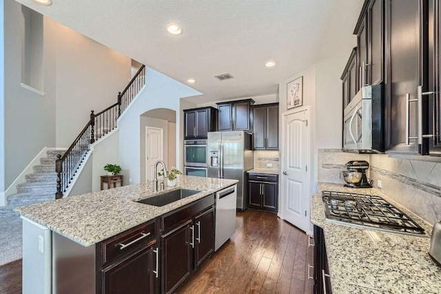
[(130, 59), (43, 17), (42, 91), (22, 87), (21, 5), (0, 4), (4, 10), (0, 77), (7, 73), (1, 78), (1, 205), (4, 191), (43, 147), (68, 147), (88, 122), (91, 109), (101, 111), (116, 103), (118, 91), (130, 78)]

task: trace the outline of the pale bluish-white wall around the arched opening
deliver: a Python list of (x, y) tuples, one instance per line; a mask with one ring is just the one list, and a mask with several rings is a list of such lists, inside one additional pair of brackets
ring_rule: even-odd
[[(147, 67), (145, 81), (147, 86), (119, 120), (119, 158), (123, 169), (121, 174), (125, 178), (132, 178), (132, 184), (141, 182), (141, 114), (156, 108), (172, 109), (176, 112), (176, 129), (182, 129), (180, 98), (201, 94)], [(182, 144), (181, 140), (182, 131), (176, 134), (176, 149), (182, 149), (182, 145), (179, 145)], [(181, 154), (177, 155), (176, 161), (181, 162)]]

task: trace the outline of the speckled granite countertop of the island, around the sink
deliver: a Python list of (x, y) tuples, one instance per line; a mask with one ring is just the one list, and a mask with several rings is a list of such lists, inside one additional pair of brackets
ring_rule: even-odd
[[(91, 246), (236, 182), (238, 180), (178, 176), (176, 187), (166, 187), (161, 192), (154, 193), (152, 182), (147, 182), (18, 207), (15, 211), (83, 246)], [(178, 188), (201, 193), (163, 207), (135, 202)]]

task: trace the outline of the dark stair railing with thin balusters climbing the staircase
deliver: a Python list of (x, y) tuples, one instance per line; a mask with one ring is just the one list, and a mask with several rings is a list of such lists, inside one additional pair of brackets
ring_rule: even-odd
[(63, 193), (68, 189), (85, 156), (90, 151), (90, 144), (116, 128), (116, 120), (127, 109), (144, 85), (145, 65), (142, 65), (123, 92), (118, 93), (118, 102), (110, 105), (98, 114), (94, 114), (93, 110), (90, 111), (88, 123), (83, 127), (80, 134), (76, 136), (72, 145), (65, 151), (65, 154), (58, 154), (57, 160), (55, 160), (55, 171), (57, 171), (57, 193), (55, 193), (55, 199), (63, 197)]

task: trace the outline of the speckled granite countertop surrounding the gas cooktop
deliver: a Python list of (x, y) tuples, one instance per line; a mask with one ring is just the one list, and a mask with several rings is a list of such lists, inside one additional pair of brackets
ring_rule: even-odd
[[(354, 192), (341, 184), (325, 182), (318, 184), (318, 190)], [(362, 193), (382, 196), (431, 233), (430, 224), (376, 189), (363, 189)], [(428, 253), (430, 238), (329, 222), (325, 220), (321, 193), (311, 197), (311, 222), (325, 233), (334, 293), (441, 293), (441, 266)], [(369, 232), (375, 232), (380, 240), (371, 238)]]

